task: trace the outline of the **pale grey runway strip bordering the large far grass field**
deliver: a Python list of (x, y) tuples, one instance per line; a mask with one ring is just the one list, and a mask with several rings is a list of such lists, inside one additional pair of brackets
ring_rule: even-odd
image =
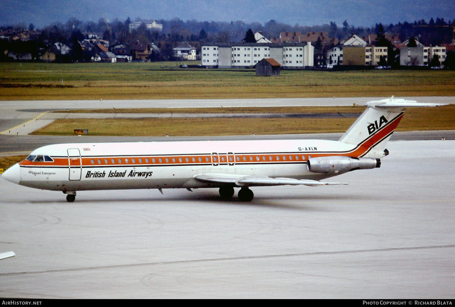
[[(363, 106), (367, 101), (387, 97), (324, 97), (324, 98), (270, 98), (270, 99), (147, 99), (147, 100), (73, 100), (73, 101), (0, 101), (0, 132), (25, 135), (52, 122), (43, 114), (52, 110), (112, 109), (119, 108), (195, 108), (247, 106)], [(455, 97), (396, 97), (419, 102), (455, 103)], [(44, 116), (41, 118), (41, 116)], [(131, 116), (131, 115), (129, 115)], [(39, 118), (41, 125), (31, 131), (27, 121)], [(36, 123), (35, 123), (36, 125)]]

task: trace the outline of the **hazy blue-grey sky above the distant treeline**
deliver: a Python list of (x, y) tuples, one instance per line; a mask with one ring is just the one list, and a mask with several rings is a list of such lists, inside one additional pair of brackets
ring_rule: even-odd
[(431, 17), (455, 19), (455, 0), (2, 0), (0, 25), (33, 23), (37, 27), (70, 17), (97, 21), (130, 17), (198, 21), (257, 21), (322, 25), (348, 20), (349, 25), (413, 22)]

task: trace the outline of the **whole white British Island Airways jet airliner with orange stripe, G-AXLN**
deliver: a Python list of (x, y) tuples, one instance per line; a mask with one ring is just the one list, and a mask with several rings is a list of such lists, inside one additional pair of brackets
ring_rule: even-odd
[(440, 106), (404, 99), (369, 101), (338, 141), (171, 141), (74, 143), (40, 147), (3, 173), (22, 186), (62, 191), (219, 188), (252, 201), (250, 187), (345, 185), (321, 181), (348, 171), (381, 166), (387, 141), (407, 107)]

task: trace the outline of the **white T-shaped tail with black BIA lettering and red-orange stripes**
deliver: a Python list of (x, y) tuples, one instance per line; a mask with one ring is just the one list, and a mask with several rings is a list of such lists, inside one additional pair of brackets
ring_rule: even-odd
[(365, 106), (367, 109), (349, 127), (339, 141), (368, 148), (364, 156), (379, 158), (387, 154), (384, 152), (385, 145), (403, 118), (407, 107), (431, 107), (440, 106), (440, 104), (394, 99), (392, 96), (389, 99), (369, 101)]

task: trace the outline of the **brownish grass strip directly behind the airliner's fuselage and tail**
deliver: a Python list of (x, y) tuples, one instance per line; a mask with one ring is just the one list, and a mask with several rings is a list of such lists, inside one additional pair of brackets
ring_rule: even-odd
[[(262, 108), (261, 111), (268, 111)], [(327, 112), (363, 107), (318, 107)], [(163, 118), (163, 119), (65, 119), (33, 132), (36, 135), (72, 135), (88, 129), (91, 136), (227, 136), (260, 134), (344, 132), (354, 118)], [(397, 131), (455, 129), (455, 105), (410, 108)]]

